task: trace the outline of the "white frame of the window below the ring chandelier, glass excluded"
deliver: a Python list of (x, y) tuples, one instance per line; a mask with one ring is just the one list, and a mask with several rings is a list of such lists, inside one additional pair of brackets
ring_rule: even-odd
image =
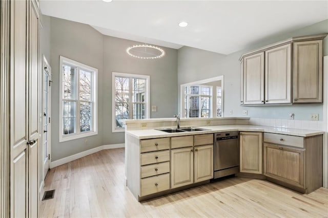
[[(146, 94), (145, 94), (145, 119), (150, 117), (150, 76), (141, 74), (129, 74), (112, 72), (112, 133), (125, 132), (125, 128), (116, 127), (116, 115), (115, 115), (115, 77), (126, 77), (135, 79), (145, 79)], [(129, 102), (131, 103), (131, 102)]]

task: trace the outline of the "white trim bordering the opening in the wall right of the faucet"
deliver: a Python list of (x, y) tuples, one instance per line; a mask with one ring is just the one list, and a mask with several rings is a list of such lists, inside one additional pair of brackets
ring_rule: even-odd
[[(184, 88), (185, 86), (187, 85), (200, 85), (202, 83), (208, 83), (208, 82), (214, 82), (214, 81), (218, 81), (218, 80), (221, 80), (221, 89), (222, 89), (222, 117), (224, 117), (224, 79), (223, 79), (223, 75), (221, 76), (216, 76), (216, 77), (212, 77), (212, 78), (208, 78), (208, 79), (202, 79), (202, 80), (198, 80), (198, 81), (194, 81), (194, 82), (188, 82), (188, 83), (184, 83), (184, 84), (181, 84), (180, 85), (180, 114), (183, 115), (183, 110), (184, 110), (184, 106), (183, 106), (183, 100), (184, 100), (184, 94), (185, 94), (185, 91), (184, 91)], [(213, 91), (214, 92), (214, 91)], [(215, 105), (215, 108), (216, 108), (216, 105)], [(211, 112), (211, 114), (213, 115), (213, 113)], [(215, 113), (216, 115), (216, 113)], [(181, 116), (183, 117), (183, 116)], [(212, 117), (216, 117), (216, 116), (212, 116)]]

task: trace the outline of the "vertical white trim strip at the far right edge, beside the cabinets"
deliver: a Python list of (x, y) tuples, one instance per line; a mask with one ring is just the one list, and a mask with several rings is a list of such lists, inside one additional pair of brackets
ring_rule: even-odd
[(323, 187), (328, 188), (328, 56), (323, 57)]

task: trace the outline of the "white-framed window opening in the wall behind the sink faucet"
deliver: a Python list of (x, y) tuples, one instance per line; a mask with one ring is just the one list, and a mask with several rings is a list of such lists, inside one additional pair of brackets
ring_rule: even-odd
[(180, 96), (181, 117), (223, 117), (223, 76), (181, 84)]

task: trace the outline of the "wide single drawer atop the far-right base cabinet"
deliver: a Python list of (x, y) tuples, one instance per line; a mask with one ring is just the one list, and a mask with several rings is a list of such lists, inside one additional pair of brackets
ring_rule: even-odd
[(264, 142), (304, 148), (304, 138), (275, 133), (264, 133)]

